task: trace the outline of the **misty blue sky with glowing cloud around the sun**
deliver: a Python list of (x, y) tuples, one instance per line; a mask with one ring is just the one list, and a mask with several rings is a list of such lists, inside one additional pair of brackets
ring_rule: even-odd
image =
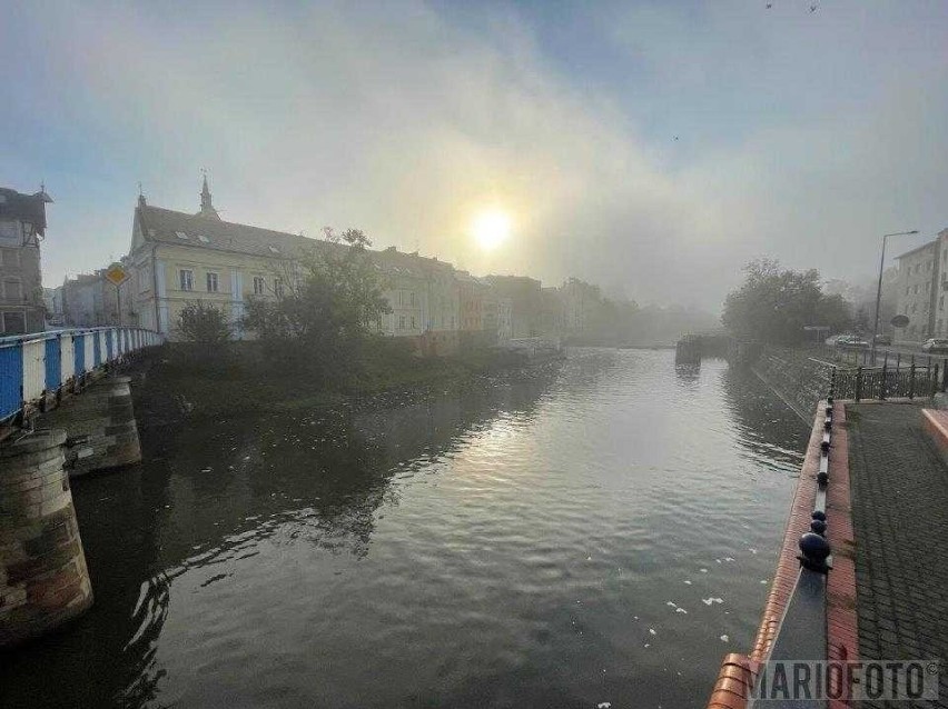
[(944, 0), (0, 14), (0, 186), (55, 199), (47, 286), (128, 251), (139, 183), (197, 211), (203, 169), (228, 221), (709, 310), (751, 259), (861, 280), (948, 227)]

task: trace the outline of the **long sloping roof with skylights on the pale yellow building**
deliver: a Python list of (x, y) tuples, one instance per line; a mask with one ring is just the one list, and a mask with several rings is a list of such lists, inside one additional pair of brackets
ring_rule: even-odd
[(146, 241), (236, 251), (267, 258), (295, 258), (308, 250), (329, 246), (327, 241), (300, 234), (238, 224), (201, 214), (139, 206), (135, 218)]

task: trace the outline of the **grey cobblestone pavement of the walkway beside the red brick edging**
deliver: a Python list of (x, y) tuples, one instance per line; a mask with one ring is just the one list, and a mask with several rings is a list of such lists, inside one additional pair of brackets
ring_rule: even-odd
[(948, 468), (914, 405), (847, 405), (859, 655), (940, 659), (948, 709)]

